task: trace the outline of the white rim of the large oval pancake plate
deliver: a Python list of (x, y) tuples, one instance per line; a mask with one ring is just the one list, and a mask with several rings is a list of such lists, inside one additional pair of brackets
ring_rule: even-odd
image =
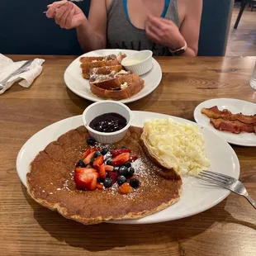
[[(136, 115), (143, 115), (144, 113), (145, 114), (157, 114), (159, 116), (162, 116), (160, 118), (166, 118), (166, 117), (171, 117), (173, 118), (175, 121), (185, 121), (187, 123), (192, 123), (192, 124), (196, 124), (195, 122), (193, 121), (189, 121), (189, 120), (186, 120), (186, 119), (183, 119), (181, 117), (177, 117), (177, 116), (168, 116), (168, 115), (164, 115), (164, 114), (160, 114), (160, 113), (156, 113), (156, 112), (149, 112), (149, 111), (133, 111), (134, 114)], [(64, 120), (61, 120), (61, 121), (57, 121), (55, 122), (54, 124), (51, 124), (50, 126), (46, 126), (45, 128), (43, 128), (42, 130), (38, 131), (35, 135), (32, 135), (31, 138), (29, 140), (26, 141), (26, 143), (21, 147), (18, 155), (17, 155), (17, 174), (19, 176), (19, 178), (21, 179), (21, 183), (23, 183), (23, 185), (26, 187), (26, 184), (24, 183), (24, 178), (22, 177), (22, 172), (19, 171), (20, 170), (20, 162), (22, 160), (22, 154), (24, 153), (24, 150), (26, 149), (26, 146), (30, 144), (30, 141), (33, 140), (36, 136), (40, 135), (40, 133), (42, 133), (44, 130), (47, 130), (47, 129), (51, 129), (51, 127), (53, 126), (56, 126), (56, 125), (61, 125), (61, 124), (64, 124), (65, 122), (67, 121), (71, 121), (73, 118), (81, 118), (81, 125), (83, 125), (82, 123), (82, 115), (81, 116), (73, 116), (73, 117), (69, 117), (69, 118), (66, 118)], [(207, 129), (206, 127), (201, 127), (202, 129), (205, 129), (205, 130), (208, 130), (212, 133), (211, 130)], [(216, 134), (215, 134), (216, 135)], [(218, 136), (218, 135), (216, 135)], [(223, 140), (220, 136), (218, 136), (223, 142), (225, 142), (225, 140)], [(57, 139), (57, 138), (56, 138)], [(235, 154), (235, 150), (232, 149), (232, 147), (225, 142), (225, 144), (229, 147), (230, 149), (230, 153), (233, 154), (233, 157), (235, 157), (235, 166), (237, 168), (237, 177), (236, 178), (239, 178), (239, 173), (240, 173), (240, 166), (239, 166), (239, 159), (237, 157), (237, 155)], [(45, 149), (45, 146), (43, 147), (43, 149)], [(36, 152), (36, 154), (38, 154), (38, 152)], [(24, 175), (24, 174), (23, 174)], [(26, 179), (26, 173), (25, 173), (25, 179)], [(150, 220), (150, 221), (145, 221), (144, 219), (147, 218), (147, 216), (145, 218), (142, 218), (142, 219), (139, 219), (139, 220), (114, 220), (114, 221), (109, 221), (110, 223), (116, 223), (116, 224), (149, 224), (149, 223), (160, 223), (160, 222), (165, 222), (165, 221), (170, 221), (170, 220), (178, 220), (178, 219), (183, 219), (185, 217), (188, 217), (188, 216), (194, 216), (194, 215), (197, 215), (198, 213), (201, 213), (203, 211), (206, 211), (208, 209), (210, 209), (211, 207), (213, 206), (216, 206), (218, 203), (220, 203), (220, 201), (223, 201), (225, 200), (226, 197), (228, 197), (230, 195), (230, 191), (229, 190), (224, 190), (223, 191), (223, 195), (221, 197), (219, 197), (216, 201), (212, 201), (211, 202), (211, 205), (209, 206), (206, 206), (206, 207), (203, 207), (201, 209), (198, 209), (198, 211), (193, 211), (192, 213), (191, 212), (187, 212), (187, 214), (183, 214), (183, 216), (178, 216), (178, 217), (175, 217), (175, 218), (166, 218), (166, 219), (162, 219), (162, 220), (158, 220), (158, 219), (155, 219), (155, 220)], [(172, 207), (172, 206), (169, 206), (169, 207)]]

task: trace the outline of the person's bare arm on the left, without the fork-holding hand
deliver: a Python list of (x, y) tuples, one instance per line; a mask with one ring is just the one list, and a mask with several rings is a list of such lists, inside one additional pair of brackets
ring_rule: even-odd
[(92, 0), (88, 19), (77, 27), (78, 41), (83, 51), (104, 49), (107, 45), (106, 0)]

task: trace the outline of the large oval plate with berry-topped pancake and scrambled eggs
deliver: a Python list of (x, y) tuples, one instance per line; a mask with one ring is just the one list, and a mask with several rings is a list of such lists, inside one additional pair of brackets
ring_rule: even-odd
[[(239, 177), (235, 151), (220, 136), (176, 116), (131, 111), (130, 122), (120, 107), (118, 115), (109, 109), (91, 108), (88, 125), (86, 114), (58, 121), (23, 145), (17, 173), (36, 202), (84, 225), (149, 224), (206, 211), (230, 194), (196, 177), (204, 169)], [(122, 138), (92, 137), (104, 121), (108, 134), (121, 113)]]

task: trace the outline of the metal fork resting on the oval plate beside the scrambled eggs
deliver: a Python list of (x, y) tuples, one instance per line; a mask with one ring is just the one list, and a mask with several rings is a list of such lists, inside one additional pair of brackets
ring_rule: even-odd
[(244, 187), (244, 184), (236, 178), (211, 171), (202, 171), (198, 174), (197, 178), (201, 178), (202, 180), (209, 183), (214, 183), (220, 187), (225, 187), (226, 189), (229, 189), (230, 191), (235, 192), (240, 196), (244, 196), (256, 209), (256, 202), (252, 199), (252, 197), (249, 196), (249, 193)]

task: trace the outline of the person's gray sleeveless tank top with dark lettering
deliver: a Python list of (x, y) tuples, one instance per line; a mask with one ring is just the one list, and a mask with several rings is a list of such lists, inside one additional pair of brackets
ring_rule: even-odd
[[(162, 17), (180, 27), (177, 0), (166, 0)], [(112, 0), (107, 10), (107, 48), (128, 50), (152, 50), (154, 55), (171, 55), (167, 47), (150, 41), (145, 30), (130, 22), (127, 0)]]

